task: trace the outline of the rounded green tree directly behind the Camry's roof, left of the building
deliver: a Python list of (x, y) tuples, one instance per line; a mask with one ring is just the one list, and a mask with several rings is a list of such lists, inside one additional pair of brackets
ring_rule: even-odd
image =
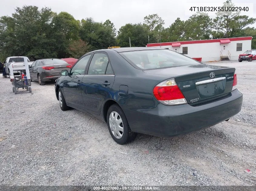
[(146, 46), (148, 43), (148, 29), (142, 24), (126, 24), (118, 31), (118, 45), (121, 47), (129, 47), (129, 37), (131, 38), (131, 46)]

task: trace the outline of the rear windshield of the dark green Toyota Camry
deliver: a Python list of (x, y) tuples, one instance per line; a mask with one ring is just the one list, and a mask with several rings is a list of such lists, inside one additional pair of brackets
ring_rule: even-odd
[(120, 55), (142, 70), (199, 64), (194, 59), (171, 50), (140, 50), (123, 52)]

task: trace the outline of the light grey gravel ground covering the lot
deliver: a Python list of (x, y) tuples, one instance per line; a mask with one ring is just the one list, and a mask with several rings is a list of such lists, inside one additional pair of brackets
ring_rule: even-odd
[(178, 138), (140, 134), (128, 145), (98, 119), (60, 110), (54, 84), (32, 82), (32, 94), (15, 95), (1, 76), (0, 185), (256, 185), (256, 62), (211, 64), (237, 68), (238, 115)]

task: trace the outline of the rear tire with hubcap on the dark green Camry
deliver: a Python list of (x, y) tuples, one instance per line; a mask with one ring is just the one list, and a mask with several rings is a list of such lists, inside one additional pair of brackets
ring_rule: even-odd
[(107, 125), (111, 137), (120, 145), (132, 142), (137, 136), (137, 133), (131, 131), (124, 112), (117, 104), (111, 105), (108, 109)]

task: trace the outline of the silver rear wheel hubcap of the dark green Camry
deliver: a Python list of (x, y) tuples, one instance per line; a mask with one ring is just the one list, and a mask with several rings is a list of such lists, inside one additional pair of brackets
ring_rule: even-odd
[(109, 115), (109, 126), (115, 138), (122, 138), (124, 134), (123, 121), (121, 116), (116, 111), (112, 111)]

